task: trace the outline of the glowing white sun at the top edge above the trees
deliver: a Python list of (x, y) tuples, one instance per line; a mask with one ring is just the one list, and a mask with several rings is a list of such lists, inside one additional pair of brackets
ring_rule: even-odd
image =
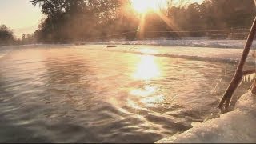
[(132, 6), (138, 13), (146, 13), (150, 10), (158, 10), (163, 0), (132, 0)]

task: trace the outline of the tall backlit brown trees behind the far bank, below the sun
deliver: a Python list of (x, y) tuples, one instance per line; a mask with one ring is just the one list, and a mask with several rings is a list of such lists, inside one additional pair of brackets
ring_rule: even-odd
[[(37, 42), (134, 40), (143, 17), (143, 38), (182, 36), (244, 38), (254, 20), (253, 0), (167, 0), (158, 12), (138, 14), (130, 0), (31, 0), (46, 18), (30, 35)], [(179, 32), (180, 31), (180, 32)], [(1, 39), (2, 37), (0, 37)], [(31, 41), (31, 40), (30, 40)]]

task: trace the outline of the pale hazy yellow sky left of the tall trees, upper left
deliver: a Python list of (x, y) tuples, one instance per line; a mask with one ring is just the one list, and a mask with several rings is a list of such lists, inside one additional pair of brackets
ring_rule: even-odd
[(40, 9), (30, 0), (0, 0), (0, 25), (10, 27), (17, 38), (37, 30), (42, 18)]

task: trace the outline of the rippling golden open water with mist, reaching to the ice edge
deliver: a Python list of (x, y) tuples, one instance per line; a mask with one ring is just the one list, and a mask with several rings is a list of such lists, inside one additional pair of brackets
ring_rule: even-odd
[(0, 55), (0, 142), (155, 142), (218, 117), (235, 70), (64, 46)]

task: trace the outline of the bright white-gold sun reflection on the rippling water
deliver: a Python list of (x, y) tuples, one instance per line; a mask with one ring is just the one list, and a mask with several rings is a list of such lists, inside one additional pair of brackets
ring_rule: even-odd
[[(143, 49), (143, 52), (151, 53), (153, 51)], [(154, 86), (150, 80), (160, 78), (161, 66), (157, 61), (157, 58), (151, 55), (141, 55), (141, 59), (138, 62), (136, 70), (133, 74), (134, 80), (142, 81), (142, 86), (130, 90), (130, 95), (134, 98), (138, 98), (137, 102), (129, 102), (129, 106), (134, 109), (138, 107), (154, 107), (158, 103), (162, 103), (165, 99), (163, 94), (159, 94), (159, 87)]]

